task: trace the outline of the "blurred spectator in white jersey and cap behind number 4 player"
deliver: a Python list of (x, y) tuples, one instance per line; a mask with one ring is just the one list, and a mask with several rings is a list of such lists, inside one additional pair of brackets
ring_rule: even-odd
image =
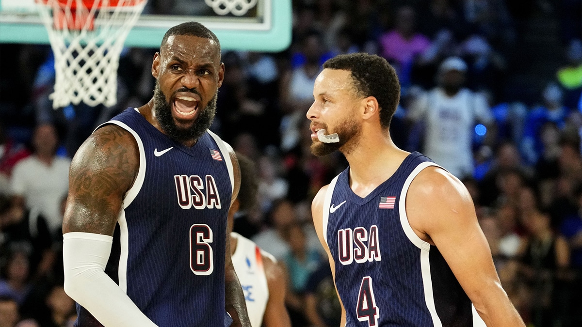
[(438, 86), (409, 108), (409, 118), (425, 126), (424, 154), (459, 178), (473, 176), (475, 122), (493, 122), (485, 97), (463, 87), (466, 72), (462, 59), (446, 59), (439, 67)]

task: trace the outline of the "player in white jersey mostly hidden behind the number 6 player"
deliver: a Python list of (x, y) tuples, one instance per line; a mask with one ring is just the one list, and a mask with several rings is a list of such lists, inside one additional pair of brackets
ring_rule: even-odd
[(275, 257), (253, 241), (232, 232), (237, 211), (248, 211), (257, 202), (254, 163), (237, 153), (240, 165), (240, 191), (230, 207), (227, 229), (230, 232), (232, 265), (243, 287), (249, 319), (253, 327), (290, 327), (285, 307), (286, 276)]

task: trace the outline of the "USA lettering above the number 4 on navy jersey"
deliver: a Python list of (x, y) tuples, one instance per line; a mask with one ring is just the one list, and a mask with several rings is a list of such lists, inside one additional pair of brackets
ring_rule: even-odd
[(338, 257), (342, 265), (381, 261), (378, 226), (370, 226), (370, 232), (363, 227), (338, 230)]

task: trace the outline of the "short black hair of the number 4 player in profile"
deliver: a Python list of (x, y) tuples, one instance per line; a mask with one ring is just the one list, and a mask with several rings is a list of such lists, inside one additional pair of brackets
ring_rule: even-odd
[(396, 70), (377, 55), (364, 52), (338, 55), (324, 63), (324, 69), (349, 70), (356, 93), (374, 97), (380, 106), (380, 125), (388, 129), (400, 101), (400, 82)]

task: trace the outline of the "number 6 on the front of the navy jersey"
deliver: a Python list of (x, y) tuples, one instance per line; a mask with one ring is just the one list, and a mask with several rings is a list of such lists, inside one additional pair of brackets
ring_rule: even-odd
[(214, 271), (212, 229), (203, 223), (190, 227), (190, 269), (194, 275), (207, 276)]

